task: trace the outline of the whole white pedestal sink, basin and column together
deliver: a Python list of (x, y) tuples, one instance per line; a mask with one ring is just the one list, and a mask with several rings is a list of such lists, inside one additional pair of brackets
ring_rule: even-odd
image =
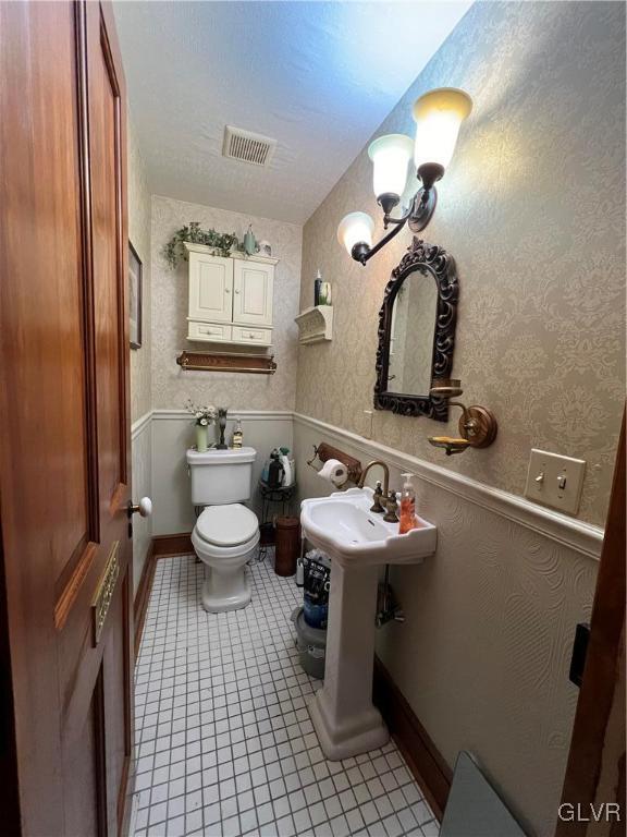
[(420, 529), (399, 535), (398, 523), (370, 511), (372, 501), (371, 488), (351, 488), (300, 505), (305, 537), (332, 562), (324, 686), (309, 705), (331, 761), (382, 747), (390, 737), (372, 704), (379, 567), (420, 563), (438, 542), (435, 526), (422, 519)]

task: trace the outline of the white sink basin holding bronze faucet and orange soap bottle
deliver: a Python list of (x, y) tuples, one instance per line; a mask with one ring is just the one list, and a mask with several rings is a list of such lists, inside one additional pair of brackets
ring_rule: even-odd
[(386, 523), (370, 511), (371, 488), (351, 488), (330, 497), (304, 500), (300, 524), (312, 544), (346, 567), (379, 563), (420, 563), (433, 555), (438, 530), (418, 518), (419, 529), (398, 534), (398, 523)]

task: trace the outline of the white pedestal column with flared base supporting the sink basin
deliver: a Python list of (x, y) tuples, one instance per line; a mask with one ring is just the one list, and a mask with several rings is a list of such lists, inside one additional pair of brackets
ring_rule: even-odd
[(332, 558), (324, 686), (309, 704), (331, 761), (383, 747), (390, 738), (372, 704), (378, 567), (346, 569)]

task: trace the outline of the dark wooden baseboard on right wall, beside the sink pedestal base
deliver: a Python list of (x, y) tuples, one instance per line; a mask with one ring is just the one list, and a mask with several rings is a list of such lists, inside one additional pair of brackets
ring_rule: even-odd
[(378, 657), (374, 657), (372, 696), (411, 775), (442, 821), (453, 771)]

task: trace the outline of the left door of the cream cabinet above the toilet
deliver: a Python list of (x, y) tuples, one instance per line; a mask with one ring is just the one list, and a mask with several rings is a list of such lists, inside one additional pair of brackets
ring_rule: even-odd
[(231, 323), (233, 260), (189, 253), (189, 318)]

